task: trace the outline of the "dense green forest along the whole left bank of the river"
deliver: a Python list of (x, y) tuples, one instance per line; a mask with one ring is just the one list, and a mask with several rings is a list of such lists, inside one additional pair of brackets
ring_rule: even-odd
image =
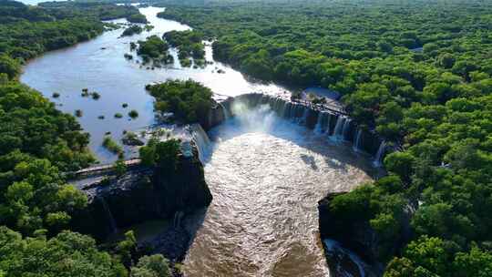
[(0, 276), (170, 276), (161, 255), (137, 261), (133, 233), (101, 249), (65, 231), (87, 197), (63, 172), (94, 161), (77, 120), (18, 82), (21, 65), (48, 50), (104, 31), (101, 19), (136, 15), (134, 7), (0, 1)]

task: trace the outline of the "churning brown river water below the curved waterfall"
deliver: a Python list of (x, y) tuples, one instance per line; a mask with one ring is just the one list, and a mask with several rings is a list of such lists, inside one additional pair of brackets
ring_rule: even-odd
[(371, 180), (370, 162), (268, 109), (230, 119), (210, 139), (214, 199), (187, 276), (329, 276), (317, 201)]

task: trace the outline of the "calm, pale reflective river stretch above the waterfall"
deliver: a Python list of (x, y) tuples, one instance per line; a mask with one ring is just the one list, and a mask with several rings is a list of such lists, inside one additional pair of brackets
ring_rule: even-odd
[[(102, 163), (112, 162), (116, 155), (104, 149), (101, 144), (104, 135), (110, 132), (113, 139), (121, 139), (123, 130), (139, 130), (154, 122), (153, 97), (145, 91), (145, 85), (179, 78), (200, 81), (210, 87), (214, 93), (224, 96), (237, 96), (249, 92), (282, 93), (285, 89), (275, 85), (264, 85), (248, 80), (241, 72), (214, 62), (204, 68), (183, 68), (178, 58), (175, 64), (166, 68), (148, 70), (135, 61), (127, 61), (129, 43), (144, 40), (147, 36), (162, 36), (171, 30), (187, 30), (190, 26), (176, 21), (157, 17), (162, 8), (140, 8), (149, 24), (154, 26), (150, 32), (140, 35), (119, 37), (124, 28), (105, 32), (97, 38), (66, 49), (56, 50), (39, 56), (24, 67), (21, 81), (50, 97), (58, 108), (74, 114), (82, 110), (78, 118), (82, 128), (91, 135), (90, 149)], [(125, 19), (112, 20), (114, 23), (126, 23)], [(211, 47), (206, 47), (206, 58), (212, 61)], [(177, 56), (176, 51), (172, 51)], [(217, 73), (222, 69), (225, 73)], [(213, 73), (212, 73), (213, 72)], [(98, 100), (81, 97), (82, 89), (97, 91)], [(52, 98), (53, 93), (60, 97)], [(128, 108), (122, 108), (128, 103)], [(130, 119), (128, 111), (136, 109), (138, 118)], [(115, 118), (116, 113), (124, 115)], [(104, 119), (99, 119), (104, 116)], [(127, 153), (131, 155), (131, 153)], [(127, 156), (128, 156), (127, 155)]]

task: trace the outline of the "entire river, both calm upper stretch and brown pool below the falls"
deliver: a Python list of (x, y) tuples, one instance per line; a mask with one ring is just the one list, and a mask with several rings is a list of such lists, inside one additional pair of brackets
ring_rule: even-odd
[[(101, 147), (106, 132), (115, 139), (123, 130), (154, 122), (153, 99), (144, 86), (167, 78), (192, 78), (215, 93), (237, 96), (249, 92), (282, 94), (285, 89), (256, 83), (231, 67), (214, 62), (205, 68), (147, 70), (129, 62), (129, 42), (170, 30), (186, 30), (160, 19), (160, 8), (141, 8), (149, 33), (119, 38), (123, 29), (30, 61), (21, 80), (52, 98), (78, 118), (90, 133), (90, 148), (102, 162), (114, 155)], [(125, 20), (115, 20), (124, 23)], [(176, 53), (174, 53), (176, 55)], [(210, 46), (207, 58), (213, 60)], [(217, 68), (216, 68), (217, 67)], [(213, 73), (220, 68), (225, 74)], [(94, 100), (82, 88), (97, 91)], [(128, 108), (122, 108), (128, 103)], [(137, 109), (136, 119), (114, 118)], [(104, 115), (105, 119), (98, 119)], [(205, 178), (213, 201), (184, 261), (186, 276), (329, 276), (318, 233), (317, 201), (329, 191), (352, 190), (371, 180), (369, 159), (308, 128), (277, 118), (268, 108), (246, 111), (210, 131)], [(186, 221), (186, 220), (185, 220)]]

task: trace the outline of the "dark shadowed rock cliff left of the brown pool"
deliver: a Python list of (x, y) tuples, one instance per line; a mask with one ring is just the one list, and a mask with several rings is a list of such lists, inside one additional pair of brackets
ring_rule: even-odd
[[(118, 228), (143, 221), (172, 219), (210, 205), (212, 196), (204, 179), (198, 152), (179, 156), (176, 171), (169, 176), (155, 169), (133, 169), (119, 178), (96, 180), (82, 188), (87, 209), (74, 216), (74, 229), (104, 240)], [(159, 178), (156, 176), (159, 175)]]

